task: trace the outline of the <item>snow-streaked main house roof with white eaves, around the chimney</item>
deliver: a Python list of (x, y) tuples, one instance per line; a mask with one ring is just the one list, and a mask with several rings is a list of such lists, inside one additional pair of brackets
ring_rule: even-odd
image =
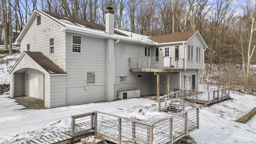
[(24, 35), (28, 32), (31, 24), (34, 22), (36, 17), (39, 15), (44, 16), (46, 19), (58, 24), (62, 31), (76, 33), (81, 35), (95, 36), (100, 38), (112, 38), (112, 39), (120, 39), (124, 41), (130, 42), (140, 42), (149, 45), (155, 45), (155, 42), (150, 40), (149, 36), (144, 36), (141, 34), (135, 34), (132, 32), (127, 32), (123, 30), (118, 30), (114, 28), (114, 35), (108, 34), (105, 32), (105, 26), (101, 24), (95, 24), (92, 22), (86, 22), (84, 20), (78, 20), (76, 18), (70, 18), (67, 16), (60, 16), (58, 14), (53, 14), (50, 12), (45, 12), (42, 10), (34, 10), (31, 14), (28, 22), (22, 29), (22, 32), (19, 34), (18, 38), (16, 38), (15, 44), (20, 44)]

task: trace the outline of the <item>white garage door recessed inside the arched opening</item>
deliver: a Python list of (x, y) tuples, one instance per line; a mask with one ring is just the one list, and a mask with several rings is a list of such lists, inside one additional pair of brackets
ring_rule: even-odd
[(28, 74), (28, 96), (38, 98), (38, 74)]

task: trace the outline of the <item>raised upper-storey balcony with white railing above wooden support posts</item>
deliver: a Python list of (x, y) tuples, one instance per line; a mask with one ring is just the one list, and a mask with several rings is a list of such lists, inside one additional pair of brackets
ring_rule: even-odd
[(184, 58), (129, 58), (130, 72), (179, 72), (184, 70)]

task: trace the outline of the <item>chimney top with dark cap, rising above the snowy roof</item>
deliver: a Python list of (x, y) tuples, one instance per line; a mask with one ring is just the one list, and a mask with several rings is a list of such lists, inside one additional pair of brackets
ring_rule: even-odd
[(106, 9), (106, 33), (114, 34), (114, 10), (111, 7)]

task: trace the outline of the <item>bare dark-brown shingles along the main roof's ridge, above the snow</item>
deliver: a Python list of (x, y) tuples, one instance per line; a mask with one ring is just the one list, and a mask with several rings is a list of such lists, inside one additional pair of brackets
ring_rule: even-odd
[[(71, 22), (72, 24), (77, 25), (77, 26), (82, 25), (82, 26), (85, 26), (86, 28), (90, 28), (90, 29), (94, 29), (94, 30), (102, 30), (102, 31), (105, 31), (105, 28), (106, 28), (104, 25), (101, 25), (101, 24), (95, 24), (93, 22), (86, 22), (84, 20), (79, 20), (76, 18), (68, 17), (68, 16), (61, 16), (61, 15), (53, 14), (53, 13), (46, 12), (46, 11), (43, 11), (43, 12), (45, 12), (46, 14), (48, 14), (54, 18), (57, 18), (57, 19), (67, 20), (68, 22)], [(114, 34), (118, 34), (121, 36), (127, 36), (126, 34), (123, 34), (122, 32), (119, 32), (117, 30), (114, 30)]]

